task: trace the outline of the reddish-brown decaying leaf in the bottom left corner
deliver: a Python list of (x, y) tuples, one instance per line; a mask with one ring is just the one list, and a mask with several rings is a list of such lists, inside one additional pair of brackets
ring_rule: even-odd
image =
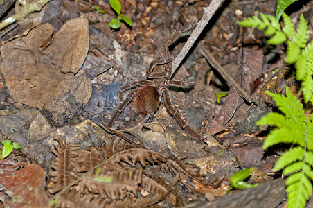
[(48, 207), (46, 172), (35, 164), (0, 161), (1, 189), (4, 207)]

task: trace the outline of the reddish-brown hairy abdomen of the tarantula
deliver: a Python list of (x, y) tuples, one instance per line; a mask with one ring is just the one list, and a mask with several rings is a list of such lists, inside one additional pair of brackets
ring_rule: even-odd
[(161, 102), (161, 94), (154, 86), (143, 86), (138, 89), (135, 96), (135, 103), (143, 115), (155, 112)]

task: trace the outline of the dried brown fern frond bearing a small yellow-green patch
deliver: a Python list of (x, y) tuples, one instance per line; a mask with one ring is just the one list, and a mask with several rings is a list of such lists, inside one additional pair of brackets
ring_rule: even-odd
[(80, 190), (82, 193), (100, 194), (102, 198), (123, 200), (126, 196), (137, 196), (142, 175), (142, 168), (108, 171), (107, 166), (101, 166), (82, 178)]

